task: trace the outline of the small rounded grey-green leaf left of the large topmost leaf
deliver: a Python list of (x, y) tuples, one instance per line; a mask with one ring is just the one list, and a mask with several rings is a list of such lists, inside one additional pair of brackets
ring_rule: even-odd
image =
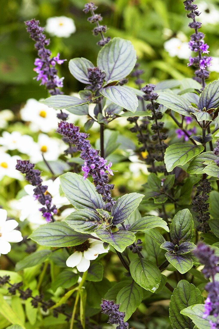
[(88, 84), (88, 68), (93, 68), (94, 64), (84, 57), (73, 58), (68, 63), (70, 73), (78, 81)]

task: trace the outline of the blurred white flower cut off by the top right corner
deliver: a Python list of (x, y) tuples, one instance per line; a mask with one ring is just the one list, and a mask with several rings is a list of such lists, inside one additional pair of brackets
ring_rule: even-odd
[(198, 11), (202, 14), (197, 17), (203, 24), (218, 24), (219, 11), (209, 1), (201, 1), (197, 3)]

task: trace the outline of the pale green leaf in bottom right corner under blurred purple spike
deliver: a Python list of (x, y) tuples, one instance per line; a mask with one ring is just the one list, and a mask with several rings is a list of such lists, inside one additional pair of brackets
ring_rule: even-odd
[(209, 321), (216, 322), (217, 318), (213, 315), (207, 316), (204, 318), (205, 305), (196, 304), (189, 306), (182, 310), (180, 313), (184, 316), (190, 317), (192, 321), (197, 325), (199, 329), (211, 329)]

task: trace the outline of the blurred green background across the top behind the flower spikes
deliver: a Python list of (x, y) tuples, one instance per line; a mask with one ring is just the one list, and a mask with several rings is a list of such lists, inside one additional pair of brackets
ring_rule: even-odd
[[(88, 15), (82, 12), (84, 0), (1, 0), (0, 10), (0, 110), (16, 111), (28, 98), (40, 99), (47, 96), (43, 86), (33, 80), (34, 59), (37, 53), (34, 41), (26, 32), (24, 21), (36, 18), (45, 26), (46, 20), (54, 16), (67, 16), (74, 20), (76, 32), (69, 38), (51, 37), (50, 49), (53, 55), (60, 52), (61, 58), (86, 57), (93, 63), (99, 47), (97, 37), (92, 35), (94, 28), (87, 21)], [(191, 77), (193, 69), (187, 67), (187, 55), (174, 56), (166, 51), (167, 40), (178, 38), (188, 42), (191, 30), (189, 19), (182, 0), (99, 0), (97, 13), (107, 24), (107, 35), (131, 40), (137, 51), (141, 68), (145, 70), (146, 82), (156, 83), (167, 78)], [(215, 57), (214, 72), (210, 80), (218, 79), (219, 73), (219, 1), (197, 1), (203, 14), (202, 31), (207, 34), (205, 41), (210, 46), (210, 55)], [(185, 44), (184, 44), (185, 45)], [(176, 45), (173, 45), (176, 47)], [(172, 43), (169, 44), (172, 49)], [(180, 48), (178, 46), (178, 48)], [(173, 49), (174, 50), (174, 49)], [(176, 50), (176, 49), (175, 49)], [(178, 49), (179, 50), (179, 49)], [(181, 49), (183, 52), (183, 49)], [(68, 62), (59, 67), (60, 76), (65, 76), (65, 94), (76, 92), (84, 87), (68, 71)], [(129, 84), (132, 85), (133, 78)]]

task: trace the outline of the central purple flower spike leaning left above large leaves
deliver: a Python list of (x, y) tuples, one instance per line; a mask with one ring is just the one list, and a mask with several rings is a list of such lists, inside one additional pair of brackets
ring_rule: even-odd
[(90, 174), (93, 177), (96, 190), (102, 195), (103, 201), (108, 202), (106, 208), (111, 210), (114, 200), (111, 196), (111, 190), (114, 185), (109, 184), (108, 174), (113, 175), (113, 171), (110, 169), (112, 163), (107, 163), (107, 160), (99, 156), (99, 152), (91, 147), (90, 141), (87, 139), (88, 134), (81, 133), (79, 127), (74, 126), (72, 123), (61, 121), (58, 124), (57, 133), (63, 137), (67, 137), (69, 142), (77, 147), (77, 150), (81, 152), (80, 157), (85, 160), (82, 170), (84, 171), (84, 179)]

